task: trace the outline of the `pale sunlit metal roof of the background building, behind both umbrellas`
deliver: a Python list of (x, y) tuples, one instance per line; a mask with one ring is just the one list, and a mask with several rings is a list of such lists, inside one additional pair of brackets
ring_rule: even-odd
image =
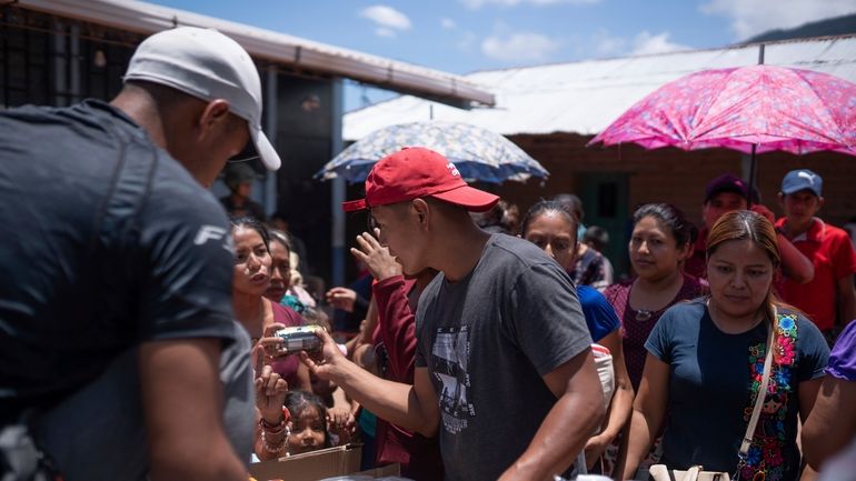
[[(752, 66), (757, 44), (475, 72), (496, 94), (491, 109), (462, 110), (402, 96), (345, 116), (342, 134), (359, 140), (395, 123), (469, 122), (498, 133), (594, 134), (664, 83), (699, 70)], [(816, 70), (856, 82), (856, 37), (768, 43), (765, 63)]]

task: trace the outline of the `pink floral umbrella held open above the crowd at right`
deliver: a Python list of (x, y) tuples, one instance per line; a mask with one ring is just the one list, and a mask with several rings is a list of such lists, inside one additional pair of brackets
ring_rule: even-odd
[[(725, 147), (752, 153), (833, 150), (856, 156), (856, 84), (774, 66), (705, 70), (638, 101), (588, 144)], [(750, 183), (754, 179), (750, 179)]]

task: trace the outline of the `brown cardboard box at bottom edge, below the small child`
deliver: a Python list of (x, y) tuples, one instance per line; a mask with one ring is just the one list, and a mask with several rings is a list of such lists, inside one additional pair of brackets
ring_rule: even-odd
[(318, 481), (356, 473), (360, 469), (361, 444), (321, 449), (305, 454), (250, 464), (250, 475), (258, 481)]

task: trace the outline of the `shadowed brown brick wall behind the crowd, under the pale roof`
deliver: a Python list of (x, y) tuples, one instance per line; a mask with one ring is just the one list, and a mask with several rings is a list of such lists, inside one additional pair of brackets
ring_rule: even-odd
[[(507, 182), (496, 190), (517, 203), (521, 211), (540, 198), (579, 191), (580, 173), (621, 172), (629, 176), (630, 211), (641, 203), (670, 202), (700, 227), (707, 181), (725, 172), (740, 176), (744, 164), (741, 153), (727, 149), (685, 152), (674, 148), (645, 150), (635, 144), (587, 148), (591, 137), (573, 133), (521, 134), (510, 139), (550, 172), (546, 182), (539, 179)], [(783, 214), (777, 200), (782, 178), (799, 168), (812, 169), (824, 179), (826, 206), (820, 211), (822, 218), (840, 226), (856, 216), (856, 157), (832, 152), (802, 157), (772, 152), (758, 156), (757, 164), (762, 198), (777, 216)]]

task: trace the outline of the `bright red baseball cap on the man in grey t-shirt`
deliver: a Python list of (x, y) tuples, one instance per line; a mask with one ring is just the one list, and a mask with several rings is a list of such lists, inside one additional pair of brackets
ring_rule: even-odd
[(434, 150), (406, 147), (380, 159), (366, 179), (366, 198), (344, 202), (342, 209), (351, 212), (422, 197), (474, 212), (490, 210), (499, 201), (492, 193), (469, 187), (455, 164)]

